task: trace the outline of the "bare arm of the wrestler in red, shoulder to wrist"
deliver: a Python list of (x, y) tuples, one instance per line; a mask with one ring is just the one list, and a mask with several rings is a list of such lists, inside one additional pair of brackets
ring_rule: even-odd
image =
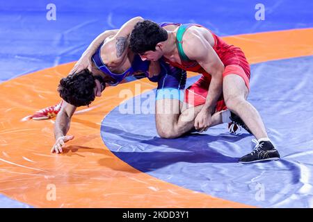
[(218, 58), (211, 44), (202, 35), (191, 33), (186, 37), (188, 37), (188, 40), (184, 50), (188, 58), (197, 61), (208, 74), (211, 74), (209, 92), (202, 109), (212, 113), (223, 91), (223, 62)]

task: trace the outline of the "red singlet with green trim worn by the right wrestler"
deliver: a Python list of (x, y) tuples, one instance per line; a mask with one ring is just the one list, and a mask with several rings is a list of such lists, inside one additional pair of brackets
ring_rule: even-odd
[[(207, 98), (207, 93), (209, 90), (209, 84), (211, 82), (211, 75), (205, 71), (198, 62), (189, 60), (189, 58), (184, 53), (184, 50), (182, 48), (182, 37), (185, 33), (185, 31), (191, 27), (191, 26), (198, 26), (203, 27), (198, 24), (171, 24), (171, 23), (163, 23), (161, 24), (161, 27), (167, 26), (167, 25), (176, 25), (179, 26), (177, 30), (177, 49), (179, 53), (179, 57), (182, 60), (182, 64), (179, 64), (177, 62), (171, 62), (170, 60), (166, 59), (166, 62), (170, 63), (170, 65), (179, 67), (180, 69), (184, 69), (186, 71), (193, 71), (198, 72), (202, 74), (203, 76), (193, 85), (188, 87), (186, 89), (186, 95), (185, 95), (185, 102), (191, 103), (194, 106), (202, 105), (205, 103), (205, 100)], [(203, 27), (205, 28), (205, 27)], [(243, 80), (246, 83), (246, 86), (249, 87), (249, 80), (250, 80), (250, 65), (248, 61), (246, 60), (246, 57), (241, 51), (239, 47), (229, 45), (223, 40), (220, 39), (217, 35), (210, 33), (214, 37), (214, 46), (213, 49), (216, 51), (216, 54), (220, 58), (220, 60), (223, 62), (223, 65), (225, 67), (223, 72), (223, 78), (227, 76), (228, 74), (236, 74), (241, 76)], [(216, 112), (220, 110), (225, 110), (226, 105), (225, 101), (223, 99), (223, 94), (218, 99), (218, 102), (216, 104)]]

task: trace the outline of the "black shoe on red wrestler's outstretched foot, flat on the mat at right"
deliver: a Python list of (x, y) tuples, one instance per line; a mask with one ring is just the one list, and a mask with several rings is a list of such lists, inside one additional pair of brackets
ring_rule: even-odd
[(239, 159), (241, 164), (250, 164), (252, 162), (261, 162), (268, 160), (279, 160), (280, 154), (270, 141), (257, 142), (254, 150)]

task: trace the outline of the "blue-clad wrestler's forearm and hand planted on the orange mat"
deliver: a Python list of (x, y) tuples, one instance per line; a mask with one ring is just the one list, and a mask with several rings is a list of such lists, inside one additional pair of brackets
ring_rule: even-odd
[(65, 142), (74, 138), (74, 136), (67, 136), (66, 134), (70, 130), (70, 121), (76, 109), (74, 105), (63, 101), (61, 110), (58, 112), (56, 122), (54, 123), (54, 138), (56, 139), (56, 143), (52, 147), (51, 153), (62, 153)]

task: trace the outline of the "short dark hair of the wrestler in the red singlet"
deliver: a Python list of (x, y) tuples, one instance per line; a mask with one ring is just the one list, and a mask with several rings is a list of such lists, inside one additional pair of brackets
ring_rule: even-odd
[(167, 39), (168, 32), (164, 28), (150, 20), (143, 20), (143, 22), (138, 22), (131, 31), (130, 47), (134, 53), (140, 54), (155, 51), (157, 44)]

